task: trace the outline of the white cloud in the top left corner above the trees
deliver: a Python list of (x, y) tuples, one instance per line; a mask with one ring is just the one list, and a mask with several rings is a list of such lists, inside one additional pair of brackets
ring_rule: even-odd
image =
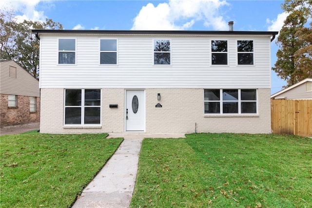
[(13, 9), (16, 13), (21, 13), (22, 15), (15, 16), (18, 22), (24, 20), (31, 21), (44, 21), (47, 17), (44, 15), (43, 11), (37, 11), (36, 6), (40, 1), (47, 0), (1, 0), (1, 9)]

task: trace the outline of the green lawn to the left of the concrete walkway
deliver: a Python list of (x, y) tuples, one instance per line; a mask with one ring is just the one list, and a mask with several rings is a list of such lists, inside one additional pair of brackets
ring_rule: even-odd
[(1, 136), (0, 207), (70, 207), (122, 142), (106, 136)]

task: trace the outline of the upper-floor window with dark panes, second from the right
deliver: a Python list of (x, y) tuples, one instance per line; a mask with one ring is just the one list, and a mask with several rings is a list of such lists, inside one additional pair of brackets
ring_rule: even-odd
[(228, 64), (228, 41), (211, 41), (211, 52), (213, 65)]

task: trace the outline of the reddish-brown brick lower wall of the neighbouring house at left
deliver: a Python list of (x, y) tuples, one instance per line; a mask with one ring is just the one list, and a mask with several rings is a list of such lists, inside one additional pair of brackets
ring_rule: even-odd
[(30, 112), (29, 96), (18, 95), (17, 107), (8, 107), (8, 95), (0, 94), (0, 126), (27, 124), (40, 121), (40, 98), (37, 111)]

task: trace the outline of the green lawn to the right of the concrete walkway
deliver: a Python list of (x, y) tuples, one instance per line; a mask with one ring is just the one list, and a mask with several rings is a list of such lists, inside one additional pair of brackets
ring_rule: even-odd
[(227, 133), (145, 139), (131, 207), (312, 207), (312, 139)]

